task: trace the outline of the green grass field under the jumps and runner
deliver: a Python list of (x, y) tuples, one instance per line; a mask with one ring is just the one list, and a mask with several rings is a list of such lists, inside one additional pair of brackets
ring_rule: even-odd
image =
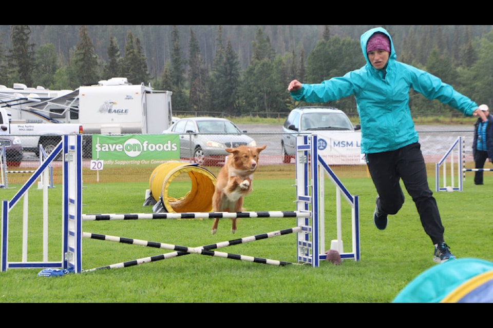
[[(429, 172), (434, 190), (434, 172)], [(433, 177), (433, 178), (431, 178)], [(473, 173), (466, 174), (463, 192), (435, 192), (445, 239), (459, 258), (493, 261), (493, 222), (491, 195), (493, 174), (485, 172), (485, 184), (473, 185)], [(319, 268), (310, 265), (268, 265), (247, 261), (189, 254), (122, 269), (106, 269), (62, 277), (38, 277), (38, 269), (9, 269), (0, 272), (0, 302), (168, 302), (168, 303), (388, 303), (416, 276), (433, 267), (433, 245), (423, 228), (409, 195), (397, 215), (389, 216), (385, 231), (372, 221), (375, 189), (370, 178), (341, 178), (352, 194), (359, 195), (361, 215), (361, 261), (346, 259), (341, 265), (322, 261)], [(183, 183), (183, 184), (181, 184)], [(247, 211), (295, 210), (294, 176), (254, 180), (254, 192), (245, 199)], [(10, 199), (19, 185), (0, 190)], [(143, 207), (147, 183), (88, 183), (83, 189), (83, 213), (152, 213)], [(176, 192), (186, 192), (185, 182), (174, 182)], [(42, 256), (42, 191), (29, 191), (28, 260)], [(49, 260), (60, 260), (61, 185), (49, 191)], [(325, 249), (336, 239), (335, 188), (329, 179), (325, 185)], [(22, 257), (22, 199), (10, 212), (9, 261)], [(350, 251), (350, 208), (343, 202), (345, 251)], [(187, 247), (237, 239), (296, 227), (294, 218), (243, 218), (238, 231), (230, 232), (229, 219), (219, 222), (217, 234), (210, 232), (212, 219), (84, 221), (83, 231), (142, 239)], [(54, 248), (54, 251), (51, 249)], [(99, 268), (129, 260), (172, 252), (83, 239), (82, 267)], [(232, 245), (218, 251), (296, 261), (296, 236), (289, 234)], [(31, 253), (32, 252), (32, 253)], [(446, 283), (446, 282), (443, 282)]]

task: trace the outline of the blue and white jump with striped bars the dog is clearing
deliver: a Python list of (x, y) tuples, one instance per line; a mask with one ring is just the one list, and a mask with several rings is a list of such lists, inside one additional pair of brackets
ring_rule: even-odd
[[(200, 254), (217, 256), (243, 261), (251, 261), (272, 265), (287, 264), (310, 264), (312, 267), (319, 267), (320, 260), (326, 259), (323, 253), (325, 247), (325, 223), (324, 223), (324, 174), (331, 179), (336, 187), (336, 209), (337, 209), (337, 239), (331, 241), (331, 249), (339, 251), (341, 258), (354, 259), (359, 261), (359, 202), (358, 196), (351, 195), (344, 187), (343, 183), (336, 177), (334, 172), (325, 163), (323, 158), (317, 154), (317, 136), (304, 135), (297, 136), (297, 155), (296, 155), (296, 211), (261, 211), (261, 212), (206, 212), (206, 213), (160, 213), (160, 214), (82, 214), (82, 136), (67, 135), (62, 138), (60, 144), (50, 153), (48, 158), (43, 161), (40, 167), (33, 173), (25, 185), (9, 200), (3, 200), (2, 208), (2, 243), (1, 243), (1, 268), (0, 271), (7, 271), (13, 268), (54, 268), (70, 269), (70, 272), (81, 273), (98, 269), (125, 268), (131, 265), (143, 264), (157, 260), (172, 258), (188, 254)], [(27, 246), (24, 250), (24, 242), (27, 245), (27, 228), (23, 229), (23, 258), (21, 261), (9, 261), (8, 240), (9, 240), (9, 212), (24, 196), (27, 203), (27, 191), (34, 181), (48, 168), (50, 163), (60, 152), (63, 153), (63, 191), (62, 191), (62, 238), (61, 256), (59, 261), (48, 261), (47, 243), (47, 218), (43, 224), (43, 261), (28, 261)], [(316, 159), (313, 161), (313, 159)], [(48, 187), (45, 184), (44, 190)], [(351, 207), (351, 227), (352, 227), (352, 247), (351, 252), (343, 251), (341, 219), (340, 219), (340, 193), (344, 195)], [(212, 197), (212, 196), (211, 196)], [(320, 201), (322, 200), (322, 201)], [(44, 204), (47, 202), (44, 201)], [(27, 209), (27, 207), (25, 207)], [(27, 212), (27, 211), (25, 211)], [(45, 213), (45, 211), (44, 211)], [(47, 216), (47, 211), (46, 211)], [(223, 241), (200, 247), (186, 247), (181, 245), (167, 244), (155, 241), (146, 241), (117, 236), (108, 236), (82, 231), (82, 221), (85, 220), (126, 220), (126, 219), (173, 219), (173, 218), (230, 218), (230, 217), (292, 217), (296, 218), (297, 226), (289, 229), (273, 231), (270, 233), (258, 234), (255, 236), (243, 237), (229, 241)], [(27, 215), (25, 217), (27, 227)], [(45, 220), (45, 217), (43, 217)], [(250, 242), (264, 238), (281, 236), (286, 234), (297, 234), (297, 263), (264, 259), (253, 256), (231, 254), (225, 252), (212, 251), (243, 242)], [(24, 236), (25, 235), (25, 236)], [(82, 239), (91, 238), (122, 242), (127, 244), (144, 245), (146, 247), (162, 248), (174, 250), (175, 252), (146, 258), (106, 265), (105, 267), (83, 270), (82, 269)], [(24, 241), (24, 239), (26, 241)], [(25, 255), (26, 253), (26, 255)]]

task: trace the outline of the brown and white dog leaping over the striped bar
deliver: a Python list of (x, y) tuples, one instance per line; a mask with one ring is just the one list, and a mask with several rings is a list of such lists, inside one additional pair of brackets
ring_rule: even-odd
[[(266, 149), (261, 147), (239, 146), (226, 148), (231, 155), (226, 157), (224, 166), (216, 179), (216, 190), (212, 196), (214, 212), (241, 212), (243, 211), (243, 197), (252, 192), (253, 174), (258, 168), (258, 156)], [(236, 219), (231, 218), (231, 232), (236, 232)], [(214, 235), (217, 231), (219, 218), (214, 219), (211, 229)]]

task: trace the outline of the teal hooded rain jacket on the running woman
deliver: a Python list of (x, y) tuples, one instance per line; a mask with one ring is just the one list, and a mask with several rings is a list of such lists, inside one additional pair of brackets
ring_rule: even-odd
[[(375, 32), (385, 33), (390, 39), (389, 60), (380, 70), (370, 64), (366, 53), (368, 39)], [(302, 84), (301, 89), (291, 92), (291, 96), (308, 103), (325, 103), (354, 95), (361, 123), (363, 154), (392, 151), (418, 141), (409, 109), (411, 88), (428, 99), (438, 99), (461, 111), (464, 116), (472, 116), (478, 108), (474, 101), (440, 78), (397, 61), (392, 38), (384, 28), (366, 31), (360, 43), (365, 66), (320, 84)]]

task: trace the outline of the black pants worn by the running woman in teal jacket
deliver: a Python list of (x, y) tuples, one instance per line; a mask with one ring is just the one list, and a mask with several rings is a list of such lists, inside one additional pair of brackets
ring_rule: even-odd
[(378, 196), (379, 209), (396, 214), (404, 203), (402, 179), (420, 215), (421, 224), (433, 244), (444, 241), (444, 227), (437, 201), (428, 186), (426, 165), (419, 142), (389, 152), (366, 154), (368, 171)]

